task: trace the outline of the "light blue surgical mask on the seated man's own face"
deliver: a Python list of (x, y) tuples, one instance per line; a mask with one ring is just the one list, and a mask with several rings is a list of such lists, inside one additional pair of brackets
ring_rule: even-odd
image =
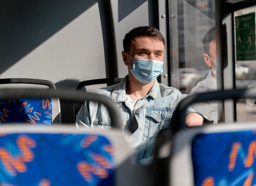
[[(127, 55), (132, 58), (129, 54)], [(136, 57), (132, 59), (133, 67), (130, 72), (141, 83), (150, 83), (163, 73), (163, 61)]]

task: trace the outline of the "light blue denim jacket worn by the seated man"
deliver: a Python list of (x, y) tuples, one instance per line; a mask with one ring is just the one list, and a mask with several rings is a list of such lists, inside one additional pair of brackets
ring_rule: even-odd
[[(120, 125), (128, 131), (132, 121), (132, 111), (126, 103), (127, 78), (128, 76), (116, 85), (101, 88), (92, 93), (108, 96), (117, 103), (121, 112)], [(152, 163), (157, 134), (160, 129), (169, 127), (173, 112), (184, 97), (186, 94), (155, 80), (149, 94), (137, 101), (134, 112), (138, 129), (130, 136), (132, 147), (135, 148), (137, 164)], [(190, 112), (195, 111), (190, 110)], [(76, 126), (109, 128), (111, 121), (107, 108), (93, 102), (83, 103), (76, 116)]]

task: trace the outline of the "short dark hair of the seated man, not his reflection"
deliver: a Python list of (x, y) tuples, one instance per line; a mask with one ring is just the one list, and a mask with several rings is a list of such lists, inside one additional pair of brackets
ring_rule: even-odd
[(132, 40), (138, 36), (155, 37), (158, 40), (162, 41), (165, 46), (164, 36), (161, 34), (161, 32), (158, 29), (151, 26), (137, 27), (129, 31), (124, 37), (124, 40), (123, 40), (124, 52), (130, 52), (129, 50), (130, 50)]

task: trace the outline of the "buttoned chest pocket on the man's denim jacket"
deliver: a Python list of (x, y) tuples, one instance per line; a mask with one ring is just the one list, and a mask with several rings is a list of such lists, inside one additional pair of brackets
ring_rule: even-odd
[(170, 126), (173, 110), (146, 110), (146, 121), (144, 125), (144, 136), (156, 138), (162, 128)]

